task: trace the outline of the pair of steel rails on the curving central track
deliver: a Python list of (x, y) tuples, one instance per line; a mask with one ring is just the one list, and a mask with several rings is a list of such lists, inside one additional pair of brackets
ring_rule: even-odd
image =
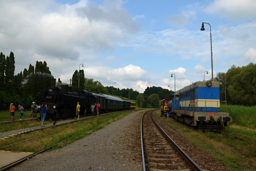
[[(153, 118), (152, 113), (155, 110), (152, 110), (151, 112), (151, 118), (153, 122), (155, 123), (156, 127), (164, 134), (164, 136), (174, 145), (174, 147), (177, 149), (178, 152), (182, 155), (182, 157), (189, 163), (191, 167), (193, 167), (196, 171), (203, 171), (165, 132), (164, 130), (156, 123), (156, 120)], [(150, 112), (150, 111), (148, 111)], [(143, 171), (146, 171), (146, 166), (145, 166), (145, 159), (144, 159), (144, 151), (143, 151), (143, 118), (144, 115), (148, 112), (145, 112), (141, 118), (141, 124), (140, 124), (140, 138), (141, 138), (141, 155), (142, 155), (142, 166), (143, 166)]]

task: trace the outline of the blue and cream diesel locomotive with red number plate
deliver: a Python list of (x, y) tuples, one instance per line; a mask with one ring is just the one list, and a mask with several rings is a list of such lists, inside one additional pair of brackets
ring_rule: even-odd
[(220, 112), (220, 103), (220, 83), (208, 81), (176, 91), (168, 107), (172, 109), (172, 118), (199, 130), (214, 131), (228, 127), (231, 121), (225, 105), (225, 112)]

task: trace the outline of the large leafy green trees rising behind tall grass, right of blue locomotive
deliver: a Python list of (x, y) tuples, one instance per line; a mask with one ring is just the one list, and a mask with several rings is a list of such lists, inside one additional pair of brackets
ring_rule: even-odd
[(220, 82), (220, 101), (226, 98), (229, 105), (252, 106), (256, 104), (256, 64), (231, 66), (226, 73), (217, 73), (214, 81)]

